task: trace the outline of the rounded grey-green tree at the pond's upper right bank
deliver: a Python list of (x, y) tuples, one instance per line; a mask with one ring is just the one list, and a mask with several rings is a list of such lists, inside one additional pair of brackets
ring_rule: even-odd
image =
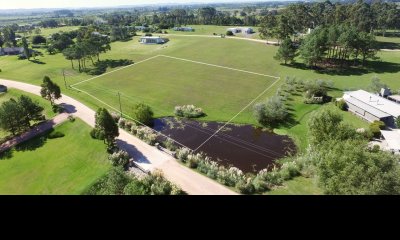
[(254, 116), (257, 121), (264, 125), (273, 127), (287, 119), (289, 112), (281, 97), (275, 96), (266, 102), (254, 106)]

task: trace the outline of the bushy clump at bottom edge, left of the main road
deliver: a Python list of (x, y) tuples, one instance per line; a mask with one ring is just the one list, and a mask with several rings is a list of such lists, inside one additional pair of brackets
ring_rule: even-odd
[(144, 178), (128, 175), (122, 167), (113, 167), (100, 178), (85, 195), (183, 195), (179, 187), (165, 179), (162, 172), (154, 171)]

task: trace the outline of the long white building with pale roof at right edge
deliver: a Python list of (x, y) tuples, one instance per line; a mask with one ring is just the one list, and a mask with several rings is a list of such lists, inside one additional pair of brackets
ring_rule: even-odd
[(382, 121), (391, 127), (400, 116), (400, 104), (364, 90), (345, 92), (343, 99), (350, 112), (369, 122)]

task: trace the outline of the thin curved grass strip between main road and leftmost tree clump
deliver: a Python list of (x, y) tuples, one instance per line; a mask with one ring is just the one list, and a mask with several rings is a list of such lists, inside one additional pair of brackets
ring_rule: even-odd
[[(19, 98), (21, 95), (26, 95), (30, 98), (32, 98), (34, 101), (37, 101), (39, 103), (40, 106), (42, 106), (45, 110), (44, 110), (44, 115), (46, 116), (47, 119), (50, 119), (52, 117), (54, 117), (56, 114), (52, 111), (51, 108), (51, 104), (49, 101), (38, 97), (34, 94), (30, 94), (24, 91), (20, 91), (17, 89), (8, 89), (7, 93), (2, 93), (0, 94), (0, 104), (2, 104), (5, 101), (10, 100), (11, 98), (17, 99)], [(0, 129), (0, 138), (4, 138), (6, 136), (8, 136), (9, 133)]]

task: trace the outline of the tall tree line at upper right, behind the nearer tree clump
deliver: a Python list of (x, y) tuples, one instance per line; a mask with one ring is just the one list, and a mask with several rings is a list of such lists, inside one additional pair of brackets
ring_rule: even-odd
[(366, 3), (295, 3), (276, 11), (268, 11), (262, 17), (260, 34), (263, 38), (284, 40), (319, 26), (346, 25), (366, 33), (386, 33), (388, 29), (400, 29), (400, 9), (395, 3), (375, 1)]

